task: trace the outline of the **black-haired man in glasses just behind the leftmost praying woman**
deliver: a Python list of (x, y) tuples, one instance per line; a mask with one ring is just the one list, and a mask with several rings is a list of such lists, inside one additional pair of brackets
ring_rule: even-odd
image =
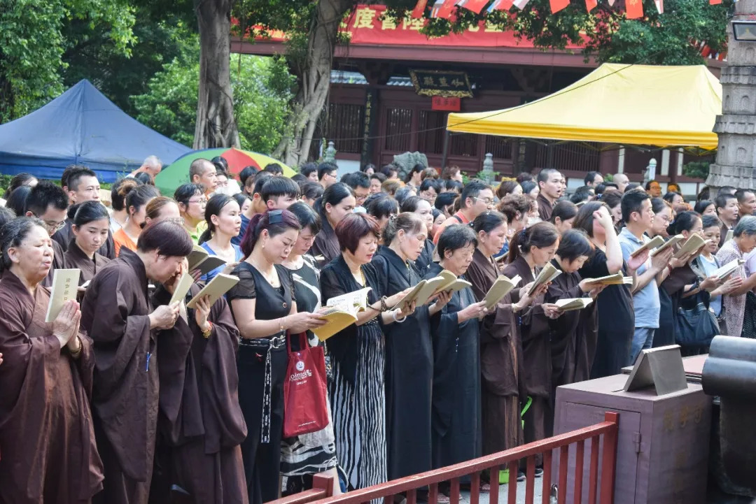
[[(68, 196), (66, 192), (48, 180), (40, 180), (26, 198), (26, 217), (41, 219), (50, 236), (54, 235), (60, 229), (60, 226), (64, 225), (67, 208)], [(45, 287), (52, 285), (52, 278), (56, 269), (67, 267), (64, 258), (65, 250), (54, 240), (52, 241), (52, 248), (54, 252), (52, 266), (47, 278), (42, 281), (42, 285)]]

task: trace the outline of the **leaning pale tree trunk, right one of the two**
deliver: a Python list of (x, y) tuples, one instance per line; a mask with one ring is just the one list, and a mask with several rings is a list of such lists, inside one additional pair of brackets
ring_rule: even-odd
[(354, 5), (354, 0), (319, 0), (315, 9), (305, 58), (293, 69), (299, 91), (289, 120), (291, 132), (273, 152), (274, 158), (291, 167), (308, 161), (312, 135), (328, 97), (339, 23)]

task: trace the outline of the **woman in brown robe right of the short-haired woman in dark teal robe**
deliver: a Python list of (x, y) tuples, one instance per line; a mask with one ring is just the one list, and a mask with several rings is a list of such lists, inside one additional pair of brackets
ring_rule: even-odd
[[(507, 217), (485, 211), (472, 223), (478, 247), (467, 269), (476, 300), (482, 301), (501, 272), (494, 260), (507, 238)], [(534, 297), (527, 295), (529, 285), (517, 303), (511, 293), (503, 297), (480, 327), (480, 367), (482, 377), (483, 454), (508, 450), (522, 444), (519, 401), (522, 391), (522, 345), (517, 318)], [(541, 296), (546, 287), (536, 290)], [(525, 398), (525, 395), (522, 395)]]

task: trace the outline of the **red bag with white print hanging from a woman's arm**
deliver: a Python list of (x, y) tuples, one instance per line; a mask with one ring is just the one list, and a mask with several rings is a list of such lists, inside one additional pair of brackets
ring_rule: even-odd
[(328, 425), (323, 347), (311, 347), (305, 333), (300, 333), (299, 351), (292, 352), (292, 337), (288, 334), (286, 339), (289, 365), (283, 382), (284, 438), (318, 432)]

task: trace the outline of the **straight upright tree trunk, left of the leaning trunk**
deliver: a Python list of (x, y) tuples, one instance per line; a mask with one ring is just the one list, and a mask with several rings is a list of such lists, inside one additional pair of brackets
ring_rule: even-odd
[(240, 146), (231, 91), (231, 2), (194, 0), (200, 29), (200, 94), (194, 149)]

